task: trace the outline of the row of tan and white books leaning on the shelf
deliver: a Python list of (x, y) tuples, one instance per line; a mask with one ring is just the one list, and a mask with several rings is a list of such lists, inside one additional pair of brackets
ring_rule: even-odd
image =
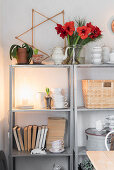
[(19, 126), (13, 128), (13, 134), (18, 151), (31, 151), (32, 149), (44, 149), (48, 128), (47, 126), (30, 125), (22, 129)]

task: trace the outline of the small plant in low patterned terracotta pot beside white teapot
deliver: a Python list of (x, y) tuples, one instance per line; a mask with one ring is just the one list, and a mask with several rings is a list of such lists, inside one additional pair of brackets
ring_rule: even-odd
[(41, 64), (41, 58), (42, 58), (43, 55), (38, 54), (38, 49), (37, 48), (35, 48), (33, 50), (33, 52), (34, 52), (34, 54), (32, 56), (33, 64)]

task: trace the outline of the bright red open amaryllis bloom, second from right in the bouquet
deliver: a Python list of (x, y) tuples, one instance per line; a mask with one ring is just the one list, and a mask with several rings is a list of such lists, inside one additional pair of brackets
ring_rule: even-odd
[(91, 32), (91, 28), (87, 26), (78, 27), (77, 32), (81, 39), (86, 39), (88, 37), (88, 34)]

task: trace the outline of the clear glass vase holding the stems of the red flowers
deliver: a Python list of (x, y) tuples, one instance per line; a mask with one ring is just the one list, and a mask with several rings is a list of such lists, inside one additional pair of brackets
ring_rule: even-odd
[(63, 61), (63, 64), (85, 64), (84, 46), (68, 46), (66, 53), (67, 58)]

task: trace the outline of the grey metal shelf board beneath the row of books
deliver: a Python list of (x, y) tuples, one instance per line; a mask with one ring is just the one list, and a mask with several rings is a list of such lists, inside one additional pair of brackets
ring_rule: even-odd
[(20, 152), (16, 149), (13, 150), (11, 157), (45, 157), (45, 156), (72, 156), (72, 153), (70, 152), (70, 148), (65, 148), (65, 151), (62, 153), (51, 153), (49, 151), (46, 152), (46, 154), (34, 154), (31, 155), (30, 152)]

